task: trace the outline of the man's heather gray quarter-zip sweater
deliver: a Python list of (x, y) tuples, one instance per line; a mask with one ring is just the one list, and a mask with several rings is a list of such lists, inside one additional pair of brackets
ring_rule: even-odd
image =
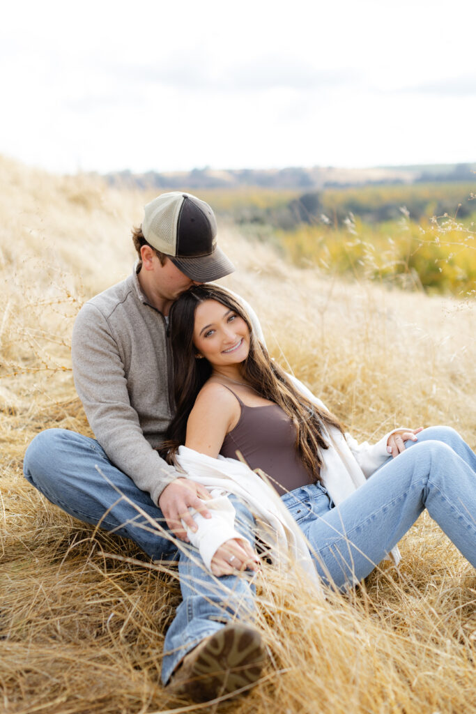
[[(262, 338), (250, 306), (236, 297)], [(83, 305), (71, 343), (74, 384), (96, 439), (154, 503), (183, 476), (154, 451), (174, 413), (167, 327), (141, 291), (134, 269)]]

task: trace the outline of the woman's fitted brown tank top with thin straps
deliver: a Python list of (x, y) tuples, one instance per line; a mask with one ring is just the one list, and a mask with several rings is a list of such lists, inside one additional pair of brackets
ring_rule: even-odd
[(280, 406), (246, 406), (235, 392), (229, 391), (238, 399), (241, 415), (226, 435), (221, 455), (238, 458), (239, 451), (250, 468), (260, 468), (270, 476), (280, 496), (312, 483), (295, 451), (295, 426)]

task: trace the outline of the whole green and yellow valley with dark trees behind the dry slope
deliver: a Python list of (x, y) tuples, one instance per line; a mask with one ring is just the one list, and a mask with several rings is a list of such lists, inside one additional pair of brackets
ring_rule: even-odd
[(273, 241), (297, 265), (476, 295), (474, 184), (413, 183), (295, 191), (207, 191), (217, 213)]

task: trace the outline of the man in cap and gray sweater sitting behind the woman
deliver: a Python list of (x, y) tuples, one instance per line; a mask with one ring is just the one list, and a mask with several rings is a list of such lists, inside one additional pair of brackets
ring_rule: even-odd
[[(193, 284), (234, 270), (216, 233), (210, 206), (188, 193), (163, 193), (145, 206), (142, 226), (133, 231), (139, 259), (132, 275), (83, 305), (74, 324), (74, 383), (96, 439), (49, 429), (34, 438), (24, 459), (26, 478), (49, 501), (81, 521), (132, 538), (156, 559), (177, 553), (177, 541), (161, 526), (164, 520), (186, 541), (182, 521), (196, 530), (189, 509), (210, 517), (203, 505), (206, 489), (183, 478), (156, 447), (174, 409), (168, 311)], [(247, 533), (252, 518), (240, 509)], [(246, 563), (249, 555), (238, 541), (235, 548), (234, 562)], [(194, 560), (181, 555), (187, 578), (197, 567)], [(203, 573), (197, 579), (201, 584), (188, 598), (198, 614), (183, 620), (183, 633), (180, 613), (174, 620), (163, 681), (172, 678), (174, 690), (207, 699), (258, 678), (263, 648), (254, 628), (223, 627), (223, 620), (253, 610), (253, 587), (246, 578), (223, 578), (219, 588), (216, 581), (213, 587), (206, 583)], [(243, 676), (229, 676), (233, 669)]]

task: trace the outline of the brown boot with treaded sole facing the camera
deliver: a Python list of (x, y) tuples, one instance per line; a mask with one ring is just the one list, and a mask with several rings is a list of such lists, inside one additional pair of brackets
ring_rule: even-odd
[[(265, 663), (258, 630), (243, 623), (225, 625), (189, 652), (172, 675), (167, 691), (207, 702), (249, 687)], [(248, 690), (245, 690), (246, 693)]]

